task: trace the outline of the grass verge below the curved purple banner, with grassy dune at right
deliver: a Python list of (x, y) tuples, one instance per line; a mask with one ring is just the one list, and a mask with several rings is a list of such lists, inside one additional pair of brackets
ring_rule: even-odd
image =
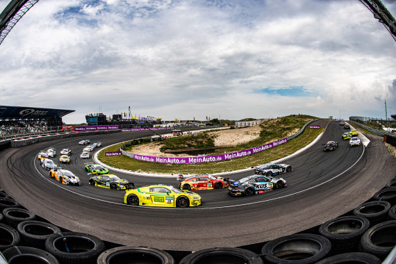
[[(296, 115), (281, 117), (278, 119), (273, 119), (262, 124), (262, 129), (265, 130), (263, 133), (263, 138), (258, 138), (258, 140), (252, 140), (245, 144), (238, 145), (227, 149), (227, 153), (236, 150), (249, 149), (251, 147), (258, 147), (264, 145), (267, 142), (272, 142), (279, 140), (281, 138), (286, 138), (286, 135), (292, 135), (295, 132), (302, 129), (302, 126), (306, 124), (311, 119), (316, 117), (311, 117), (308, 115)], [(271, 130), (277, 130), (277, 133), (272, 133)], [(260, 165), (263, 163), (271, 162), (272, 160), (277, 160), (284, 156), (293, 154), (295, 151), (301, 149), (308, 145), (312, 140), (314, 140), (317, 135), (322, 133), (324, 129), (305, 129), (302, 135), (299, 135), (297, 139), (290, 140), (277, 147), (272, 147), (271, 149), (266, 149), (265, 151), (258, 152), (257, 154), (236, 158), (233, 160), (223, 160), (215, 163), (194, 163), (194, 164), (165, 164), (165, 163), (150, 163), (148, 161), (134, 160), (128, 156), (113, 156), (105, 157), (105, 151), (119, 151), (121, 144), (108, 147), (104, 151), (101, 151), (98, 155), (101, 162), (110, 165), (111, 167), (119, 167), (124, 170), (130, 170), (133, 172), (151, 172), (151, 173), (165, 173), (165, 174), (201, 174), (201, 173), (218, 173), (227, 172), (232, 170), (240, 170), (246, 167)], [(235, 149), (235, 150), (233, 150)], [(222, 152), (224, 153), (224, 152)], [(214, 154), (213, 154), (214, 155)]]

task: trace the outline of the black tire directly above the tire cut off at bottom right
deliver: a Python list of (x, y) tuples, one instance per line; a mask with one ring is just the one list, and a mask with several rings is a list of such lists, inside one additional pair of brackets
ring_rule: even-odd
[(357, 251), (363, 233), (370, 227), (365, 217), (343, 216), (320, 225), (319, 233), (331, 242), (331, 251), (336, 254)]

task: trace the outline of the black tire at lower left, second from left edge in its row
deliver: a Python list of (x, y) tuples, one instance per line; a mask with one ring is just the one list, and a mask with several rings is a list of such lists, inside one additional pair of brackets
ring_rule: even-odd
[(17, 231), (26, 245), (39, 249), (45, 249), (45, 240), (49, 236), (60, 233), (58, 226), (34, 220), (20, 222)]

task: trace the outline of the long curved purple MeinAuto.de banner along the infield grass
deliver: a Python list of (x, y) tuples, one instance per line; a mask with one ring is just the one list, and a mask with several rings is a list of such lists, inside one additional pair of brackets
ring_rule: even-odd
[(233, 158), (248, 156), (251, 154), (264, 151), (265, 149), (270, 149), (277, 145), (281, 145), (286, 142), (288, 142), (288, 138), (283, 138), (281, 140), (270, 142), (268, 144), (254, 147), (252, 149), (246, 149), (246, 150), (231, 152), (228, 154), (215, 155), (215, 156), (196, 156), (196, 157), (185, 157), (185, 158), (165, 158), (165, 157), (143, 156), (138, 154), (134, 154), (133, 156), (135, 160), (149, 161), (151, 163), (175, 163), (175, 164), (208, 163), (208, 162), (221, 161), (221, 160), (231, 160)]

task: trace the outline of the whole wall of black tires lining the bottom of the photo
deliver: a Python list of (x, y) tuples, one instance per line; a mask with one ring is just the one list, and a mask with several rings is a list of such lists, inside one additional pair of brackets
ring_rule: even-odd
[(0, 251), (10, 264), (381, 263), (396, 245), (395, 185), (396, 181), (391, 181), (372, 199), (341, 217), (263, 242), (259, 249), (257, 245), (216, 247), (190, 254), (111, 246), (89, 234), (62, 230), (38, 219), (0, 190)]

